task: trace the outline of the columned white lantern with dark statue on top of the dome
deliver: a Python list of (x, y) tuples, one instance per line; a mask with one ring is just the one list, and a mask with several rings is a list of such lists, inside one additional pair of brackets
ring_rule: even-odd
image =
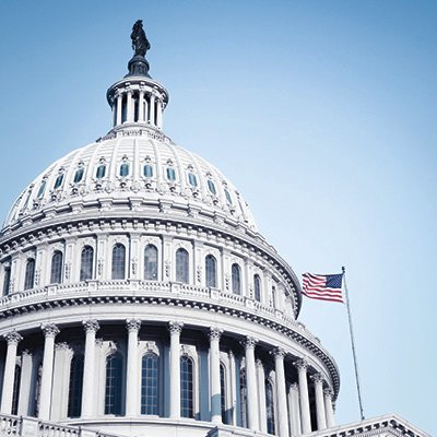
[(168, 92), (149, 75), (150, 66), (145, 54), (151, 45), (141, 20), (133, 25), (131, 39), (134, 54), (128, 63), (129, 72), (111, 85), (106, 94), (113, 109), (113, 130), (118, 131), (132, 125), (161, 130)]

